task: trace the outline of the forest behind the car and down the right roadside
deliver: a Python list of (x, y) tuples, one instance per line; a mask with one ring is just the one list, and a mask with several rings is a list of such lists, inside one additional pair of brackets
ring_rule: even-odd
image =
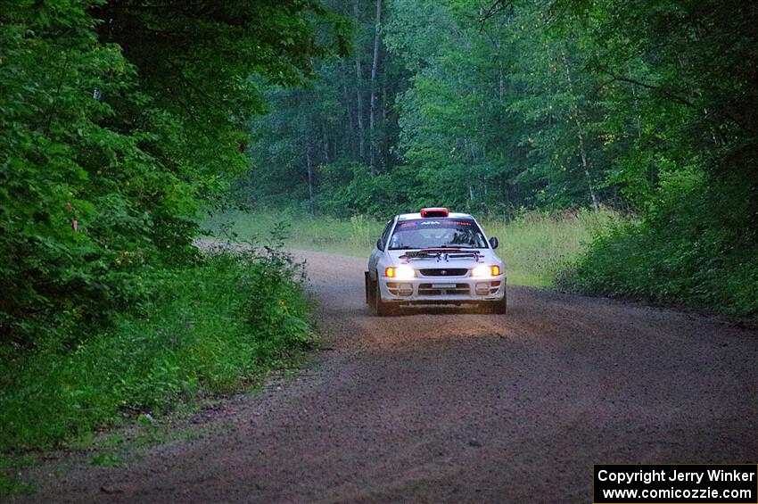
[(353, 50), (267, 87), (235, 187), (252, 209), (610, 209), (557, 285), (756, 313), (758, 5), (326, 4)]

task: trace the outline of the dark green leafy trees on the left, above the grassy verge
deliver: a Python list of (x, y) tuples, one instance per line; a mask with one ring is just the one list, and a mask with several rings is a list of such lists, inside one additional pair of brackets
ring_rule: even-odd
[(0, 2), (0, 344), (75, 347), (194, 260), (248, 167), (259, 81), (346, 27), (314, 2)]

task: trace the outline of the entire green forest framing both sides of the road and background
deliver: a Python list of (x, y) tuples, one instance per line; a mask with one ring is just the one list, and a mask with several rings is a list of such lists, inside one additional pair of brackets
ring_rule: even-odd
[(231, 209), (605, 212), (553, 286), (758, 316), (756, 47), (744, 0), (0, 0), (0, 452), (312, 345), (277, 225), (198, 247)]

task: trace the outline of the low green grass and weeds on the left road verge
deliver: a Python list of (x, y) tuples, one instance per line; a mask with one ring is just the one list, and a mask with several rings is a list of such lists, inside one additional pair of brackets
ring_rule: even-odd
[[(5, 348), (0, 495), (29, 492), (13, 475), (42, 450), (76, 448), (135, 420), (149, 427), (209, 393), (242, 391), (292, 367), (314, 343), (303, 278), (276, 246), (265, 255), (210, 252), (195, 266), (152, 272), (148, 301), (74, 348)], [(119, 458), (106, 452), (91, 462)]]

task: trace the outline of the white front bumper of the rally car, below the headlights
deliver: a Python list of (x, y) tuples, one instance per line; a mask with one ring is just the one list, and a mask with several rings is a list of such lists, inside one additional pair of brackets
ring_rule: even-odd
[(379, 277), (383, 302), (407, 304), (445, 304), (502, 300), (506, 292), (506, 276), (416, 277), (398, 280)]

